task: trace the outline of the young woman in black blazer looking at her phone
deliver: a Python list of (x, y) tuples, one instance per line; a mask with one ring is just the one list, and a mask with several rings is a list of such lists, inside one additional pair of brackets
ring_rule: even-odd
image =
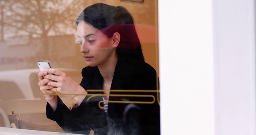
[(70, 110), (60, 97), (46, 94), (47, 117), (71, 133), (89, 134), (93, 130), (96, 135), (159, 135), (160, 110), (156, 92), (152, 91), (157, 89), (157, 75), (144, 62), (128, 10), (94, 4), (78, 16), (76, 29), (80, 52), (88, 66), (82, 69), (80, 85), (56, 69), (38, 73), (43, 93), (74, 97)]

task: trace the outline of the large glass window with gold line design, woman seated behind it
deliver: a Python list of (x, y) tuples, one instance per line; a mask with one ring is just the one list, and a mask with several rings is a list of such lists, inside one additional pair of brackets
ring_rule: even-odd
[(1, 1), (0, 107), (20, 129), (159, 134), (157, 21), (157, 0)]

